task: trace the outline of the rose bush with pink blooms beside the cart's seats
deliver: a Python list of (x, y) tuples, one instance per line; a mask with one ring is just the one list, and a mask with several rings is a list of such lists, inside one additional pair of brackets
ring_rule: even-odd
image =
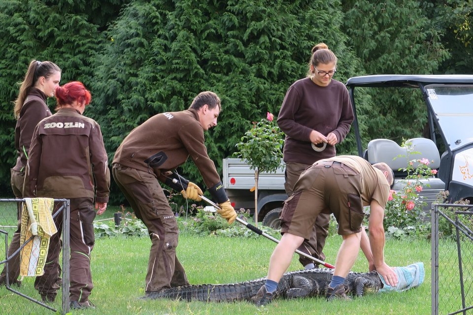
[(399, 169), (407, 175), (403, 189), (391, 190), (386, 205), (384, 229), (388, 234), (396, 237), (410, 235), (416, 230), (425, 230), (425, 225), (428, 225), (428, 222), (419, 220), (426, 206), (419, 192), (424, 189), (424, 186), (429, 185), (425, 184), (424, 180), (437, 174), (437, 170), (430, 168), (430, 163), (426, 158), (413, 159), (407, 163), (406, 167)]

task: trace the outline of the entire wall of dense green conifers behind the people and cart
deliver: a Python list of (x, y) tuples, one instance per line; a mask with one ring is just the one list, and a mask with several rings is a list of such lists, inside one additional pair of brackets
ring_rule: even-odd
[[(219, 169), (252, 121), (267, 111), (277, 116), (289, 85), (305, 76), (310, 49), (318, 42), (338, 56), (341, 82), (360, 74), (465, 68), (451, 60), (460, 49), (467, 59), (472, 56), (471, 31), (462, 28), (471, 25), (464, 1), (442, 6), (423, 1), (421, 8), (413, 0), (373, 2), (0, 1), (1, 195), (11, 195), (9, 168), (15, 159), (11, 102), (32, 59), (57, 63), (62, 84), (81, 80), (92, 91), (85, 114), (101, 124), (110, 159), (128, 132), (150, 116), (183, 110), (201, 91), (216, 92), (223, 111), (206, 143)], [(449, 40), (458, 51), (442, 44), (442, 35), (451, 32), (457, 34)], [(404, 95), (389, 95), (393, 110), (384, 105), (386, 97), (366, 95), (360, 104), (367, 138), (380, 128), (387, 135), (397, 133), (391, 122), (399, 119), (409, 125), (405, 134), (421, 132), (424, 118), (416, 104)], [(54, 106), (52, 99), (49, 103)], [(373, 110), (382, 113), (379, 119), (368, 117)], [(418, 123), (407, 124), (415, 119)], [(352, 134), (338, 153), (355, 153)], [(181, 172), (202, 184), (193, 163)], [(111, 197), (112, 203), (123, 202), (114, 186)]]

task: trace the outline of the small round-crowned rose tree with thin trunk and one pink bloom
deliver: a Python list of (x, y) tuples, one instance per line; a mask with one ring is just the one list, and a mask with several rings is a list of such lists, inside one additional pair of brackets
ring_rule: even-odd
[(261, 172), (273, 173), (282, 168), (282, 145), (284, 133), (274, 121), (274, 115), (267, 113), (266, 119), (253, 123), (250, 130), (236, 144), (235, 155), (250, 164), (255, 170), (255, 224), (258, 225), (258, 179)]

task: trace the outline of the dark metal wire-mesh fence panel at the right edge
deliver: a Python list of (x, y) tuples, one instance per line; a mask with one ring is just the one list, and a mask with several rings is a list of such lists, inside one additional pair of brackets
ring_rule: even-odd
[(473, 314), (473, 205), (432, 205), (432, 315)]

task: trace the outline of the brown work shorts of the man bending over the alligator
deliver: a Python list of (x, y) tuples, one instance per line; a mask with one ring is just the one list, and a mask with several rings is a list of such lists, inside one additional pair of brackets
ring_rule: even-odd
[(361, 175), (340, 162), (320, 162), (305, 170), (286, 199), (281, 213), (281, 232), (308, 240), (319, 213), (333, 213), (338, 234), (361, 231), (365, 217), (361, 199)]

